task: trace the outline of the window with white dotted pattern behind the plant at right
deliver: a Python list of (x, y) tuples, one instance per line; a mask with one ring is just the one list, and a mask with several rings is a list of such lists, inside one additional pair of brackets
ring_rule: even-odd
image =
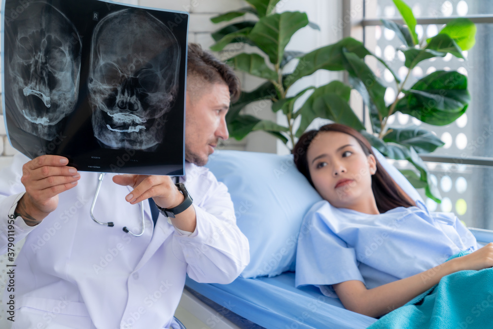
[[(419, 67), (413, 69), (405, 88), (411, 87), (423, 75), (436, 70), (457, 70), (468, 77), (471, 102), (466, 113), (447, 126), (426, 125), (398, 112), (388, 122), (390, 126), (421, 125), (445, 142), (445, 146), (438, 148), (433, 157), (423, 156), (425, 161), (436, 161), (426, 163), (442, 195), (442, 203), (436, 204), (422, 193), (430, 210), (454, 212), (467, 226), (493, 229), (493, 189), (490, 187), (493, 186), (493, 167), (470, 165), (493, 165), (493, 90), (490, 87), (493, 59), (489, 55), (493, 51), (493, 1), (405, 2), (417, 18), (417, 34), (420, 38), (436, 35), (444, 24), (455, 17), (468, 17), (477, 27), (476, 44), (463, 53), (465, 61), (451, 54), (423, 61)], [(408, 69), (404, 66), (403, 53), (397, 50), (402, 43), (380, 21), (385, 18), (402, 24), (392, 0), (353, 0), (351, 7), (345, 10), (354, 12), (357, 8), (362, 8), (362, 19), (353, 21), (351, 31), (347, 31), (346, 35), (362, 37), (370, 51), (384, 58), (390, 68), (400, 78), (404, 78)], [(387, 85), (385, 99), (389, 104), (395, 99), (397, 90), (390, 72), (377, 63), (368, 64), (376, 69), (382, 82)], [(406, 161), (397, 161), (396, 167), (402, 169), (408, 167), (408, 164)]]

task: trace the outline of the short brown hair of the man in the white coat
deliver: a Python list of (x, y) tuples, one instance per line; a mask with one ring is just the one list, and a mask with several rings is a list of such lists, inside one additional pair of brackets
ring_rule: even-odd
[(240, 79), (233, 69), (197, 43), (188, 44), (187, 79), (193, 80), (187, 92), (200, 93), (205, 83), (225, 83), (232, 103), (240, 97)]

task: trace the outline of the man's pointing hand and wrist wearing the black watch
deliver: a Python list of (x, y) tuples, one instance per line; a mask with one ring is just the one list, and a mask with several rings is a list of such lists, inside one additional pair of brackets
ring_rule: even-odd
[[(161, 208), (174, 208), (185, 200), (169, 176), (116, 175), (113, 176), (113, 182), (134, 188), (125, 197), (131, 204), (152, 198)], [(196, 225), (195, 209), (189, 207), (171, 220), (176, 228), (193, 232)]]

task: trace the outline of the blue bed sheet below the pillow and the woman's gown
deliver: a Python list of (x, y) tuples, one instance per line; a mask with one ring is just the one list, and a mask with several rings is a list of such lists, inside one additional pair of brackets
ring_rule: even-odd
[(316, 287), (294, 288), (293, 272), (238, 278), (229, 285), (201, 284), (190, 278), (185, 284), (267, 329), (362, 329), (377, 321), (346, 310), (339, 299), (322, 295)]

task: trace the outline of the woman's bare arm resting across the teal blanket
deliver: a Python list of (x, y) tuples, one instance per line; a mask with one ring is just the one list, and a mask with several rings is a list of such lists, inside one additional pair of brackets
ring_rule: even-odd
[(451, 259), (422, 273), (373, 289), (366, 289), (357, 280), (341, 282), (333, 287), (348, 310), (375, 318), (404, 305), (436, 285), (446, 275), (492, 266), (493, 243), (490, 243), (469, 255)]

